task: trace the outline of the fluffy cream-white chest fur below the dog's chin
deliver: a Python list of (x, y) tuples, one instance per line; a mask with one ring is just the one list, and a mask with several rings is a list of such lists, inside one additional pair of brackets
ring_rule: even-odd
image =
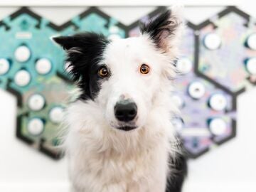
[(93, 105), (80, 101), (68, 109), (72, 126), (66, 144), (73, 191), (164, 192), (172, 135), (169, 121), (156, 120), (164, 114), (150, 113), (146, 127), (127, 133), (110, 127), (98, 132), (103, 125), (90, 118), (94, 112)]

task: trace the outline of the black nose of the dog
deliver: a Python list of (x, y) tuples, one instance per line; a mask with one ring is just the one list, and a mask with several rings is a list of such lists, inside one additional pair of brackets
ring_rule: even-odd
[(114, 106), (114, 115), (121, 122), (132, 121), (137, 115), (137, 105), (129, 100), (117, 102)]

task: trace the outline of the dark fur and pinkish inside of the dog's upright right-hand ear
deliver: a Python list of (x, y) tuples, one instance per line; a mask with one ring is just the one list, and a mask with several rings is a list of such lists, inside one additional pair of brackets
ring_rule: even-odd
[(149, 23), (142, 23), (140, 31), (142, 34), (146, 33), (154, 41), (157, 48), (162, 48), (164, 41), (167, 41), (171, 35), (174, 35), (174, 31), (178, 28), (175, 18), (171, 18), (171, 11), (168, 10), (155, 18), (152, 18)]

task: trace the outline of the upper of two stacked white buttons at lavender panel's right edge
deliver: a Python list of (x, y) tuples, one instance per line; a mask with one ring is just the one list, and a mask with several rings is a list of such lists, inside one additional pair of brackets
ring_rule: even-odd
[(223, 94), (214, 94), (210, 97), (209, 105), (215, 111), (225, 110), (227, 99)]

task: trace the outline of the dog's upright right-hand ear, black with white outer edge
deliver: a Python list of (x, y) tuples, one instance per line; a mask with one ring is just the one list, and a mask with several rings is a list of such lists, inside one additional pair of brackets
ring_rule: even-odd
[(171, 48), (178, 47), (183, 28), (181, 7), (175, 7), (152, 18), (148, 23), (143, 23), (140, 31), (142, 35), (149, 36), (157, 48), (169, 53)]

